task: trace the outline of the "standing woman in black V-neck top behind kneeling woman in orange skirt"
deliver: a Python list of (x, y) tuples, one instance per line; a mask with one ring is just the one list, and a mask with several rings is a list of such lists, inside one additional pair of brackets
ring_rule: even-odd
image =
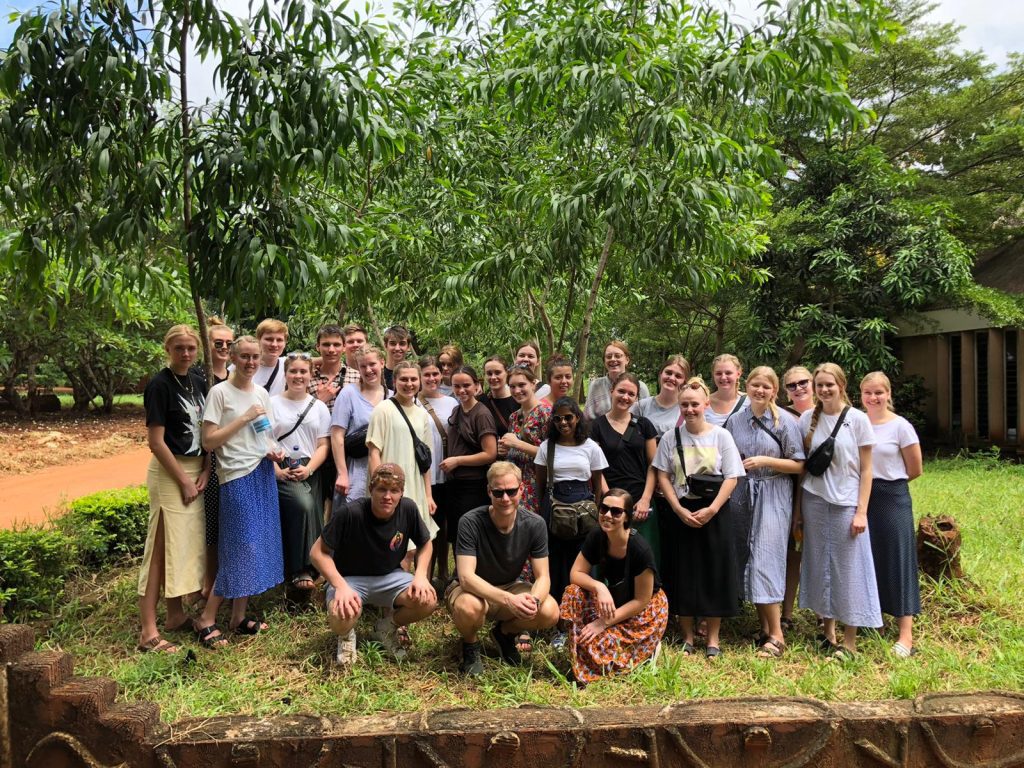
[[(630, 373), (622, 374), (611, 390), (611, 410), (597, 417), (590, 436), (608, 462), (604, 481), (624, 488), (631, 499), (637, 499), (630, 519), (647, 522), (654, 496), (654, 473), (648, 472), (656, 450), (656, 430), (644, 417), (631, 413), (640, 391), (640, 381)], [(650, 544), (650, 540), (647, 540)]]

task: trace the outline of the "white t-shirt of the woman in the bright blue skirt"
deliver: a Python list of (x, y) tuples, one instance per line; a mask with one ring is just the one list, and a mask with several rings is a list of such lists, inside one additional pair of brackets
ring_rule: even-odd
[[(217, 384), (206, 398), (203, 421), (224, 427), (242, 416), (255, 403), (266, 411), (266, 418), (274, 424), (273, 406), (270, 395), (263, 387), (253, 385), (251, 390), (239, 389), (230, 381)], [(217, 477), (221, 483), (245, 477), (259, 466), (266, 456), (267, 445), (263, 435), (258, 434), (252, 422), (227, 438), (227, 442), (217, 449)]]

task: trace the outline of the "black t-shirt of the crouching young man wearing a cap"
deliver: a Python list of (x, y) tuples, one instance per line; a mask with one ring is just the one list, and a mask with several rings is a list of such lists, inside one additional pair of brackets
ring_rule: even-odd
[(369, 497), (354, 502), (335, 501), (323, 536), (343, 577), (390, 573), (401, 565), (410, 540), (417, 547), (430, 541), (416, 502), (406, 498), (398, 501), (394, 514), (386, 520), (374, 516)]

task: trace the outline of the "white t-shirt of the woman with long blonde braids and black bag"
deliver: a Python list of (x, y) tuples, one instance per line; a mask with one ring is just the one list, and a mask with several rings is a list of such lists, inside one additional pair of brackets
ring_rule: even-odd
[[(807, 435), (811, 428), (811, 418), (814, 410), (806, 411), (800, 417), (800, 433)], [(818, 445), (825, 441), (839, 421), (839, 414), (829, 416), (822, 412), (818, 418), (818, 426), (811, 438), (811, 447), (807, 451), (810, 458)], [(874, 430), (871, 422), (862, 411), (850, 409), (836, 435), (836, 447), (833, 452), (833, 463), (824, 474), (815, 477), (810, 472), (804, 475), (802, 487), (815, 496), (819, 496), (829, 504), (840, 507), (856, 507), (860, 496), (860, 447), (874, 444)]]

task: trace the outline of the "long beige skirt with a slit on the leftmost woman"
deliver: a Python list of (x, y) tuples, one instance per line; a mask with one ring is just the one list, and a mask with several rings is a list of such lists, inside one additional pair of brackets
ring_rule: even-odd
[[(203, 471), (200, 456), (175, 456), (189, 477), (199, 479)], [(181, 501), (181, 488), (164, 466), (153, 457), (146, 473), (150, 489), (150, 530), (145, 537), (142, 568), (138, 573), (138, 594), (144, 595), (150, 580), (150, 563), (157, 539), (157, 525), (164, 518), (164, 596), (181, 597), (203, 588), (206, 568), (206, 513), (203, 495), (191, 504)]]

